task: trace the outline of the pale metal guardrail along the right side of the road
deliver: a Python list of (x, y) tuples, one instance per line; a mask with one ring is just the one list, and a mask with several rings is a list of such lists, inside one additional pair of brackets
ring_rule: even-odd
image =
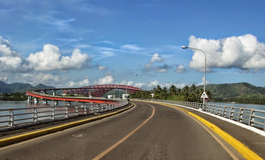
[(237, 122), (247, 123), (249, 126), (263, 127), (265, 131), (265, 111), (243, 108), (243, 107), (233, 107), (233, 106), (222, 106), (222, 105), (212, 105), (212, 104), (203, 104), (195, 102), (183, 102), (183, 101), (171, 101), (171, 100), (151, 100), (151, 99), (134, 99), (130, 100), (143, 100), (143, 101), (152, 101), (152, 102), (162, 102), (169, 103), (173, 105), (180, 105), (185, 107), (194, 108), (197, 110), (202, 110), (204, 112), (216, 114), (221, 117), (228, 119), (236, 120)]

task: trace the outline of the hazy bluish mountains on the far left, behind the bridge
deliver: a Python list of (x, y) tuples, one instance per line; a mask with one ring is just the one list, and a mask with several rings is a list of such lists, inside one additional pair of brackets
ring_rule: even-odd
[(42, 88), (55, 88), (48, 85), (38, 84), (37, 86), (32, 86), (29, 83), (12, 83), (7, 84), (3, 81), (0, 81), (0, 93), (14, 93), (20, 92), (23, 93), (28, 89), (42, 89)]

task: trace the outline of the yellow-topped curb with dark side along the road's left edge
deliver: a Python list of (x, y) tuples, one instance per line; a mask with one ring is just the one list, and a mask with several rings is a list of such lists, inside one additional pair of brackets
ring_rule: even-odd
[(6, 138), (6, 139), (0, 139), (0, 147), (7, 146), (7, 145), (10, 145), (10, 144), (14, 144), (14, 143), (18, 143), (18, 142), (25, 141), (25, 140), (28, 140), (28, 139), (44, 136), (46, 134), (62, 131), (64, 129), (68, 129), (68, 128), (79, 126), (79, 125), (86, 124), (86, 123), (89, 123), (89, 122), (97, 121), (97, 120), (100, 120), (100, 119), (103, 119), (103, 118), (106, 118), (106, 117), (110, 117), (110, 116), (113, 116), (115, 114), (119, 114), (121, 112), (129, 110), (133, 106), (134, 106), (134, 104), (132, 103), (129, 107), (126, 107), (125, 109), (119, 110), (117, 112), (103, 114), (103, 115), (98, 116), (98, 117), (84, 119), (84, 120), (81, 120), (81, 121), (72, 122), (72, 123), (60, 125), (60, 126), (57, 126), (57, 127), (52, 127), (52, 128), (44, 129), (44, 130), (41, 130), (41, 131), (36, 131), (36, 132), (27, 133), (27, 134), (22, 134), (22, 135), (18, 135), (18, 136), (14, 136), (14, 137), (9, 137), (9, 138)]

